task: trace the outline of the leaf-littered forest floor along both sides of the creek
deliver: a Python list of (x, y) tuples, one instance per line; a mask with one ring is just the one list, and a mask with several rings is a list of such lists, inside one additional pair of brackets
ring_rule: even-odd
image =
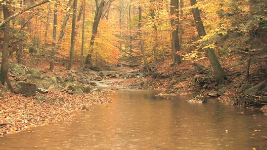
[[(247, 103), (237, 103), (238, 98), (244, 95), (241, 86), (245, 83), (244, 62), (240, 59), (227, 59), (223, 62), (223, 69), (228, 75), (228, 80), (223, 82), (223, 88), (227, 90), (219, 97), (219, 100), (228, 105), (245, 106), (250, 109), (267, 111), (266, 105), (246, 106)], [(115, 71), (96, 72), (91, 70), (66, 70), (63, 66), (56, 67), (55, 71), (48, 71), (48, 66), (38, 69), (47, 77), (60, 77), (69, 82), (74, 80), (79, 86), (106, 84), (120, 88), (138, 88), (161, 90), (166, 95), (186, 95), (201, 93), (211, 95), (216, 93), (218, 86), (214, 80), (210, 63), (201, 60), (198, 63), (203, 67), (203, 73), (197, 73), (190, 61), (185, 61), (178, 66), (172, 66), (171, 62), (159, 63), (148, 73), (141, 67), (118, 67)], [(78, 68), (78, 67), (77, 67)], [(107, 74), (107, 75), (104, 75)], [(196, 76), (202, 76), (203, 83), (196, 82)], [(10, 75), (12, 80), (25, 80), (27, 75)], [(26, 80), (27, 81), (27, 80)], [(267, 82), (265, 64), (254, 63), (250, 71), (251, 86)], [(15, 84), (13, 83), (13, 86)], [(69, 87), (62, 89), (50, 89), (48, 93), (42, 94), (47, 98), (38, 101), (36, 96), (26, 97), (22, 94), (11, 93), (1, 90), (0, 99), (0, 135), (26, 130), (37, 125), (56, 123), (73, 118), (76, 112), (93, 109), (94, 105), (107, 104), (112, 100), (102, 92), (91, 92), (73, 95), (68, 93)], [(64, 91), (65, 90), (65, 91)], [(66, 92), (67, 90), (67, 92)], [(267, 92), (259, 91), (253, 95), (253, 102), (266, 100)], [(216, 96), (217, 97), (217, 96)], [(247, 97), (247, 96), (246, 96)], [(243, 105), (244, 104), (244, 105)], [(253, 103), (255, 104), (255, 103)]]

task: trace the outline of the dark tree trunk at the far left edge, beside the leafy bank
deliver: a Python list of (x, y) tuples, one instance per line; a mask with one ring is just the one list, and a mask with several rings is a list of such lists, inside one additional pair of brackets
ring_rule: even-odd
[[(2, 9), (3, 9), (3, 16), (4, 16), (4, 20), (6, 20), (7, 18), (9, 18), (9, 10), (7, 8), (7, 4), (2, 5)], [(1, 72), (0, 72), (0, 81), (1, 84), (4, 85), (4, 83), (7, 84), (8, 89), (13, 90), (12, 86), (8, 80), (8, 55), (9, 55), (9, 51), (8, 51), (8, 47), (9, 47), (9, 24), (10, 24), (10, 20), (6, 21), (4, 24), (4, 35), (3, 35), (3, 49), (2, 49), (2, 62), (1, 62)]]

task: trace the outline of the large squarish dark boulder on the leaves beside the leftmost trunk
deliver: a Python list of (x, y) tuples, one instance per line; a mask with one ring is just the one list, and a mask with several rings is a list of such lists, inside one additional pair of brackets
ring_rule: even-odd
[(29, 82), (18, 82), (15, 92), (24, 94), (26, 96), (34, 96), (36, 94), (36, 84)]

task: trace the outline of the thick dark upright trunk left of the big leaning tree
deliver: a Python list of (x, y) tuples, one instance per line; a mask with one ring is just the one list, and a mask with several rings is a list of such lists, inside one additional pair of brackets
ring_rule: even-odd
[(171, 0), (171, 15), (172, 17), (177, 16), (176, 19), (171, 20), (172, 27), (174, 31), (172, 31), (172, 52), (173, 52), (173, 61), (174, 64), (180, 64), (181, 58), (180, 55), (177, 54), (179, 51), (179, 7), (178, 0)]

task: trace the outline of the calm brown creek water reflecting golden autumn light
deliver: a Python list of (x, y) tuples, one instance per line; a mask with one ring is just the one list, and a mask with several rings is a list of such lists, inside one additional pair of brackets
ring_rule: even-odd
[(267, 150), (262, 113), (216, 100), (188, 104), (187, 97), (165, 100), (155, 94), (112, 93), (112, 104), (82, 112), (75, 121), (0, 138), (0, 150)]

